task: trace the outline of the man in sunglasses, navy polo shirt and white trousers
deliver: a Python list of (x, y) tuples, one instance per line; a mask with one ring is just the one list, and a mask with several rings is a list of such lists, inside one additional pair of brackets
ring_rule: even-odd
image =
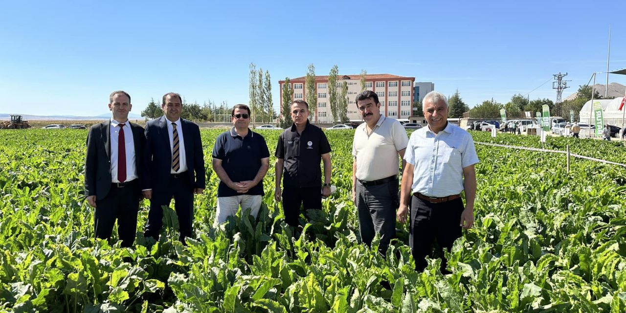
[(235, 215), (240, 205), (257, 217), (264, 195), (263, 177), (270, 163), (265, 138), (248, 128), (250, 108), (235, 105), (231, 115), (233, 128), (220, 134), (213, 146), (213, 170), (220, 178), (217, 223)]

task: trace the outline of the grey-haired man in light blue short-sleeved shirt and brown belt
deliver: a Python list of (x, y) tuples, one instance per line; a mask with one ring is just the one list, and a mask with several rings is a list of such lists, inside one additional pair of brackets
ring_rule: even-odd
[[(448, 123), (448, 100), (431, 91), (423, 100), (428, 127), (411, 134), (404, 153), (406, 167), (401, 183), (397, 217), (406, 222), (411, 203), (409, 244), (416, 270), (426, 268), (426, 256), (433, 256), (433, 241), (442, 249), (452, 248), (461, 237), (461, 228), (474, 223), (478, 156), (469, 133)], [(461, 192), (465, 191), (463, 206)], [(413, 193), (413, 198), (411, 198)], [(459, 222), (460, 221), (460, 222)], [(443, 256), (443, 254), (442, 254)], [(441, 261), (441, 272), (446, 270)]]

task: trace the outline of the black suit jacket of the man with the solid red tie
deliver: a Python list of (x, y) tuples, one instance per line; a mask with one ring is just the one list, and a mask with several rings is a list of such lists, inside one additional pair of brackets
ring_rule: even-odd
[[(143, 146), (145, 135), (143, 127), (135, 123), (129, 123), (133, 131), (135, 143), (135, 171), (140, 183), (137, 192), (141, 192), (141, 180), (143, 178)], [(96, 200), (102, 200), (111, 189), (111, 121), (103, 121), (91, 126), (87, 135), (87, 154), (85, 156), (85, 196), (96, 196)]]

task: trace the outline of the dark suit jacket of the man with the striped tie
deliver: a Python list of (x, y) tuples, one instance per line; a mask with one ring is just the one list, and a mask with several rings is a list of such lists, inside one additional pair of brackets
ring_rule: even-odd
[[(141, 180), (141, 189), (152, 189), (153, 192), (162, 192), (167, 188), (167, 182), (170, 180), (170, 172), (172, 170), (172, 148), (170, 148), (170, 135), (167, 131), (167, 123), (171, 122), (165, 116), (146, 123), (146, 148), (143, 153), (146, 179)], [(192, 121), (183, 118), (180, 119), (180, 124), (183, 132), (183, 142), (185, 143), (185, 160), (187, 160), (190, 186), (204, 189), (206, 185), (206, 170), (204, 168), (200, 128)]]

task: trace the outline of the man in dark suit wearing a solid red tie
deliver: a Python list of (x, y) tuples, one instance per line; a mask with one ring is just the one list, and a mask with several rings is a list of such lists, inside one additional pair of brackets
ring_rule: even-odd
[(109, 239), (115, 220), (122, 247), (135, 242), (137, 212), (143, 178), (143, 128), (128, 121), (133, 106), (125, 91), (113, 91), (109, 110), (113, 117), (91, 126), (85, 157), (85, 196), (95, 207), (96, 238)]

